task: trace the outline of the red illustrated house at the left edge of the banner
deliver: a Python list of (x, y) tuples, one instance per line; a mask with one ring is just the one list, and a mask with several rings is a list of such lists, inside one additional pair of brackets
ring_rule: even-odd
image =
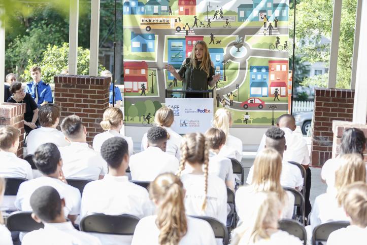
[(139, 92), (142, 84), (148, 90), (147, 62), (124, 62), (124, 92)]

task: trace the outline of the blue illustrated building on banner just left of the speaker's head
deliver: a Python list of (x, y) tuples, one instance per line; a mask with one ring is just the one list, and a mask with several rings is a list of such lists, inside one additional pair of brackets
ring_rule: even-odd
[[(182, 62), (186, 58), (186, 45), (185, 37), (168, 38), (168, 63), (173, 65), (176, 69), (180, 69)], [(169, 79), (173, 79), (174, 76), (169, 72)]]

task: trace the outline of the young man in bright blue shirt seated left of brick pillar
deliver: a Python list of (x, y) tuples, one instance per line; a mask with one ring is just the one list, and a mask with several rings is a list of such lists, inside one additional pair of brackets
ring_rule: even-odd
[(41, 68), (39, 66), (34, 66), (30, 68), (29, 71), (33, 81), (25, 86), (25, 92), (32, 96), (38, 107), (46, 105), (47, 103), (52, 103), (51, 87), (41, 80)]

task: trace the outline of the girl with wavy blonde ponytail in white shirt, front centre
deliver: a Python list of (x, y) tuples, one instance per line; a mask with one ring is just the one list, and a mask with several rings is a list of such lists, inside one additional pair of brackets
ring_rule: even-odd
[(149, 186), (156, 215), (141, 219), (135, 228), (132, 245), (201, 245), (215, 244), (208, 222), (185, 214), (185, 190), (179, 177), (158, 175)]

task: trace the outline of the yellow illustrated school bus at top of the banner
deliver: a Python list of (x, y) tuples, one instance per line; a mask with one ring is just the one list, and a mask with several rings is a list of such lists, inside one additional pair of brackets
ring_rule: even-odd
[(151, 29), (176, 29), (177, 32), (181, 31), (181, 19), (180, 17), (170, 16), (157, 17), (157, 16), (145, 16), (140, 20), (140, 26), (145, 26), (146, 31)]

